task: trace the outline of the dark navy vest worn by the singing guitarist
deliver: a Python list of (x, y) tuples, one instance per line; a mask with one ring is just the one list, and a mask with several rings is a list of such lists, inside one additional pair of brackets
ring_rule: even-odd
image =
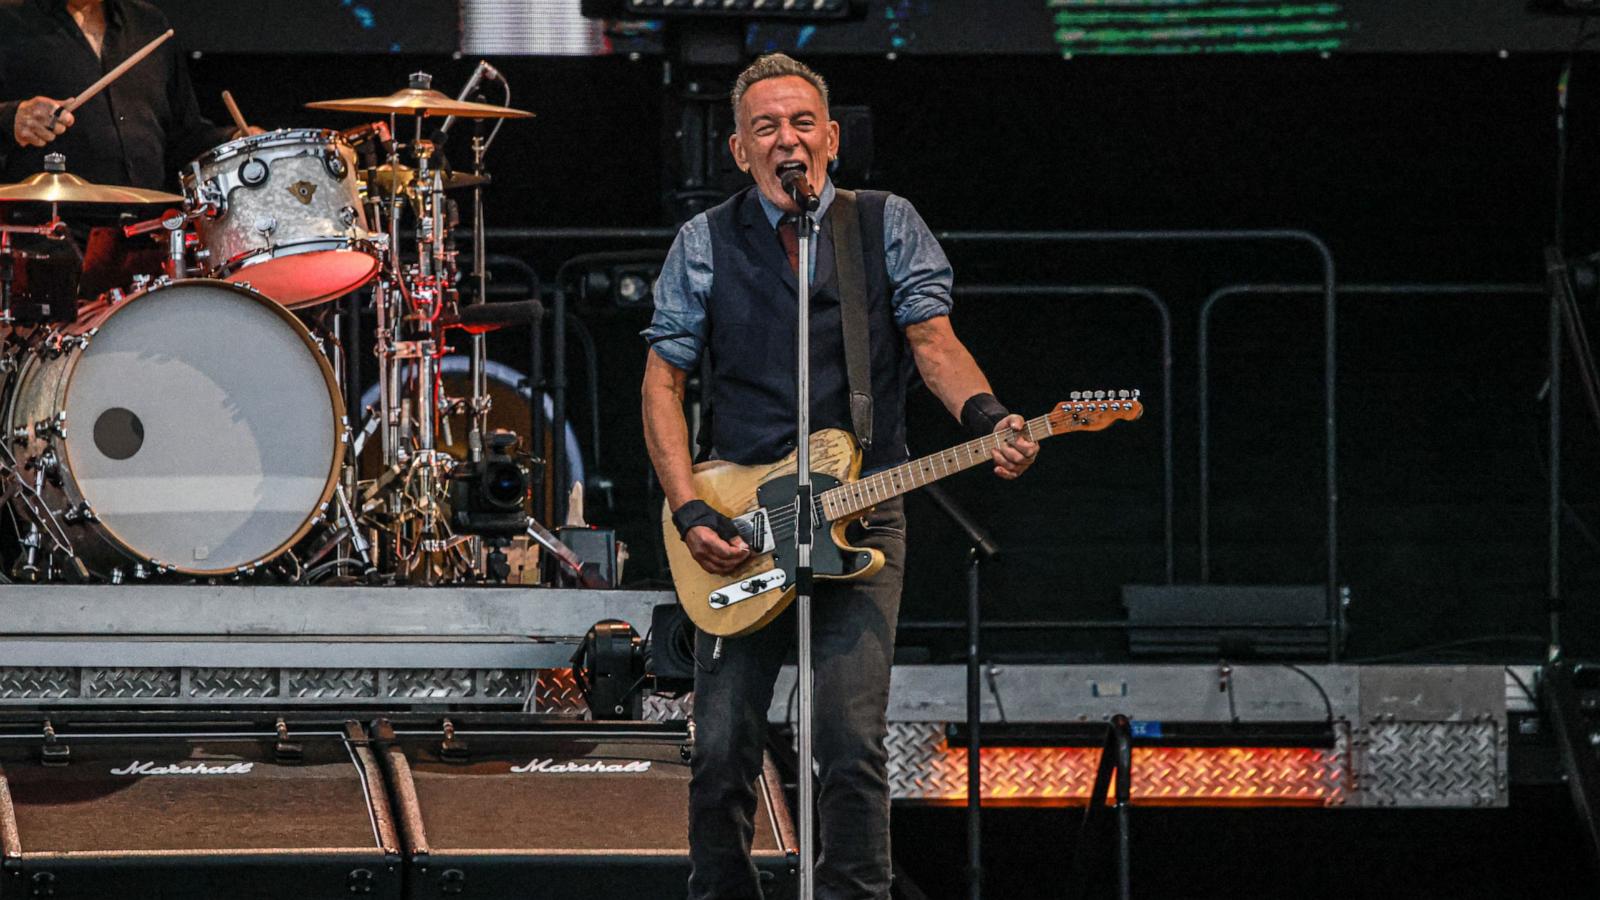
[[(862, 267), (867, 282), (867, 351), (872, 359), (872, 447), (864, 469), (901, 463), (906, 453), (906, 381), (910, 349), (894, 325), (883, 261), (883, 203), (861, 191)], [(834, 216), (838, 203), (829, 205)], [(774, 463), (795, 447), (795, 274), (755, 187), (707, 210), (712, 291), (707, 307), (712, 456), (741, 464)], [(830, 229), (818, 234), (811, 285), (811, 429), (851, 431), (845, 336)]]

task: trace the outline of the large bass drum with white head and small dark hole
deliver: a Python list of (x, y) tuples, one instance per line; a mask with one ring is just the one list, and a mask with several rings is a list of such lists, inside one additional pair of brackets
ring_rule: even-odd
[(227, 282), (141, 290), (24, 359), (5, 426), (99, 577), (235, 575), (312, 527), (344, 404), (306, 327)]

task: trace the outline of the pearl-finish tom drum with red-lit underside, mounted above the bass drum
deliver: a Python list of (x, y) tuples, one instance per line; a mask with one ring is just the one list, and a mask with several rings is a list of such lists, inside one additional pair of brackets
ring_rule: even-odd
[(355, 152), (338, 131), (285, 128), (229, 141), (189, 165), (184, 195), (200, 216), (200, 271), (288, 307), (344, 296), (378, 274), (355, 184)]

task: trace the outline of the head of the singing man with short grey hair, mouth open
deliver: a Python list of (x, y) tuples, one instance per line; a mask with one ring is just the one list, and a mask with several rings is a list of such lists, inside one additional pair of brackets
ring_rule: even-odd
[(805, 165), (811, 187), (822, 191), (827, 160), (838, 152), (838, 123), (827, 117), (822, 94), (798, 75), (755, 82), (739, 98), (738, 130), (728, 138), (733, 162), (755, 178), (762, 194), (784, 211), (798, 211), (784, 194), (778, 167)]

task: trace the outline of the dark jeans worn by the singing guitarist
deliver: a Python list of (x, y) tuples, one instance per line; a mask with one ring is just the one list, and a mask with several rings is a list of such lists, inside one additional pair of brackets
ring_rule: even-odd
[[(846, 540), (882, 549), (886, 564), (867, 580), (816, 581), (811, 602), (813, 733), (822, 783), (816, 895), (888, 900), (890, 786), (883, 741), (894, 620), (906, 572), (904, 501), (882, 504), (867, 527), (851, 525)], [(698, 636), (690, 898), (760, 900), (750, 863), (755, 778), (762, 770), (773, 682), (795, 647), (794, 609), (754, 634), (723, 641), (718, 660), (712, 660), (714, 644), (710, 636)]]

